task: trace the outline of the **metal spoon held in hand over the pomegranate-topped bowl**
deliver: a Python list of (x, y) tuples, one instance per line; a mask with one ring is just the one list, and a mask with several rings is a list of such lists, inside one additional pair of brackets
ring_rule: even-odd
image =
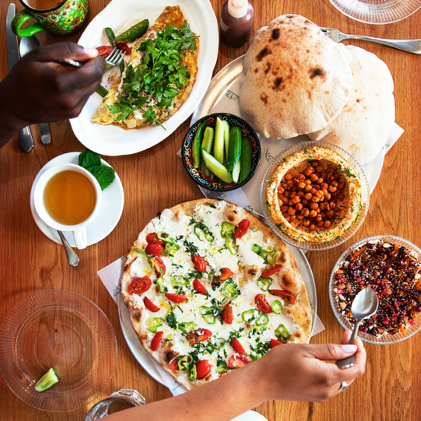
[[(354, 329), (352, 331), (352, 335), (350, 338), (350, 342), (348, 344), (353, 344), (354, 339), (358, 334), (358, 327), (359, 324), (367, 317), (371, 317), (376, 311), (379, 305), (379, 300), (377, 298), (377, 294), (371, 288), (364, 288), (359, 291), (354, 300), (352, 301), (351, 305), (351, 313), (354, 317), (356, 317), (356, 322)], [(355, 362), (355, 354), (348, 356), (343, 359), (339, 359), (336, 362), (336, 365), (339, 368), (349, 368), (354, 365)]]

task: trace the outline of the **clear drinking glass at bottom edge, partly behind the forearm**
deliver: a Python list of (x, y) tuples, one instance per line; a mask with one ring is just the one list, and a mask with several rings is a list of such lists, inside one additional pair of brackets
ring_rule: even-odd
[(138, 407), (146, 403), (145, 398), (137, 390), (120, 389), (108, 398), (99, 401), (86, 414), (85, 421), (98, 420), (106, 415), (125, 409)]

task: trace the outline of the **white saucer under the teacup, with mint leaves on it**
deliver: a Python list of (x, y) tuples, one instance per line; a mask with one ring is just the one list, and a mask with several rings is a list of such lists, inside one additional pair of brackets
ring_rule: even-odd
[[(35, 210), (34, 206), (34, 189), (35, 184), (38, 181), (41, 174), (57, 164), (64, 163), (79, 163), (80, 152), (69, 152), (64, 153), (63, 155), (56, 156), (51, 161), (47, 162), (40, 170), (40, 172), (35, 177), (34, 182), (32, 183), (31, 194), (30, 194), (30, 206), (32, 216), (35, 223), (38, 225), (38, 228), (46, 235), (50, 240), (55, 241), (58, 244), (61, 244), (61, 240), (57, 231), (47, 224), (45, 224), (41, 218), (38, 216), (38, 213)], [(102, 165), (110, 166), (107, 162), (101, 159)], [(98, 216), (86, 227), (87, 235), (87, 245), (91, 246), (92, 244), (97, 243), (98, 241), (103, 240), (117, 225), (120, 220), (121, 214), (123, 212), (124, 205), (124, 192), (123, 185), (121, 184), (120, 178), (116, 173), (116, 178), (114, 181), (102, 192), (102, 205), (99, 210)], [(69, 241), (71, 247), (75, 247), (73, 235), (71, 232), (64, 232), (66, 239)]]

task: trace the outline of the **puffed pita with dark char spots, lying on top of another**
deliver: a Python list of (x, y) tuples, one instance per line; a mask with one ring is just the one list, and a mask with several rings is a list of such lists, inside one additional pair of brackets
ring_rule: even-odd
[(347, 104), (347, 52), (308, 19), (283, 15), (253, 37), (240, 87), (243, 118), (266, 138), (321, 130)]

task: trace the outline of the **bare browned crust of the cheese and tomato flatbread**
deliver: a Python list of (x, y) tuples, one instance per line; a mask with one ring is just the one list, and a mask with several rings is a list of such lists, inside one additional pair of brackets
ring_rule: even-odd
[[(274, 283), (272, 284), (271, 288), (278, 288), (283, 289), (291, 292), (296, 297), (296, 302), (291, 304), (288, 303), (286, 300), (284, 301), (284, 307), (282, 310), (282, 314), (284, 318), (289, 318), (294, 326), (295, 329), (290, 332), (290, 336), (287, 341), (285, 342), (295, 342), (295, 343), (308, 343), (310, 338), (310, 331), (311, 331), (311, 325), (312, 325), (312, 316), (311, 316), (311, 307), (310, 302), (307, 295), (307, 290), (304, 284), (304, 281), (302, 280), (298, 268), (295, 264), (295, 261), (291, 254), (289, 253), (288, 249), (286, 248), (285, 244), (282, 242), (282, 240), (276, 236), (273, 231), (264, 224), (260, 219), (256, 218), (254, 215), (252, 215), (247, 210), (244, 210), (234, 204), (231, 204), (229, 202), (217, 200), (217, 199), (198, 199), (188, 202), (180, 203), (169, 210), (164, 210), (160, 217), (166, 218), (168, 215), (173, 214), (173, 221), (179, 222), (180, 224), (184, 223), (187, 218), (192, 218), (194, 215), (197, 216), (198, 210), (205, 209), (223, 209), (223, 218), (225, 221), (229, 222), (234, 227), (238, 225), (238, 223), (243, 219), (248, 219), (250, 221), (250, 226), (248, 228), (248, 233), (251, 235), (258, 234), (259, 231), (263, 233), (264, 238), (264, 244), (273, 244), (274, 248), (279, 250), (279, 254), (276, 256), (275, 261), (272, 263), (272, 265), (281, 265), (281, 269), (273, 276)], [(152, 282), (152, 286), (149, 288), (148, 291), (146, 291), (142, 296), (137, 296), (136, 294), (132, 294), (129, 290), (131, 282), (135, 279), (135, 272), (137, 272), (139, 269), (139, 265), (145, 266), (146, 257), (139, 252), (139, 250), (144, 250), (147, 246), (146, 236), (149, 233), (157, 232), (159, 230), (159, 224), (160, 219), (159, 216), (154, 218), (152, 221), (150, 221), (144, 229), (140, 232), (138, 239), (131, 247), (129, 254), (127, 256), (127, 260), (125, 263), (125, 268), (123, 272), (123, 276), (121, 278), (121, 292), (124, 299), (124, 302), (126, 303), (130, 316), (132, 321), (132, 326), (137, 333), (140, 343), (144, 347), (144, 349), (152, 355), (158, 363), (166, 370), (168, 371), (176, 380), (178, 380), (183, 386), (185, 386), (187, 389), (192, 389), (196, 386), (199, 386), (201, 384), (207, 383), (211, 380), (216, 379), (219, 377), (219, 374), (216, 372), (213, 372), (213, 370), (203, 379), (201, 380), (195, 380), (193, 382), (188, 380), (188, 373), (183, 373), (178, 370), (171, 370), (169, 368), (169, 365), (171, 361), (174, 360), (179, 355), (184, 355), (185, 352), (180, 352), (180, 349), (178, 348), (177, 342), (174, 340), (174, 338), (171, 335), (168, 335), (168, 332), (164, 334), (163, 340), (160, 342), (160, 346), (156, 351), (152, 351), (151, 346), (151, 340), (154, 336), (154, 333), (151, 333), (147, 329), (148, 320), (150, 320), (151, 317), (154, 317), (156, 314), (159, 313), (151, 313), (148, 309), (146, 309), (144, 302), (143, 302), (143, 295), (148, 296), (152, 301), (155, 302), (156, 305), (159, 305), (162, 307), (164, 306), (176, 306), (177, 304), (171, 303), (166, 297), (165, 294), (160, 293), (158, 289), (158, 285)], [(185, 224), (185, 223), (184, 223)], [(186, 224), (185, 224), (186, 225)], [(192, 231), (192, 226), (183, 226), (183, 230), (187, 233), (189, 231)], [(260, 235), (260, 234), (259, 234)], [(187, 237), (186, 237), (187, 238)], [(240, 241), (240, 240), (237, 240)], [(240, 258), (244, 258), (240, 257)], [(144, 259), (144, 260), (142, 260)], [(166, 260), (167, 266), (168, 261)], [(174, 264), (178, 264), (175, 263)], [(134, 266), (136, 266), (136, 269), (134, 270)], [(256, 280), (259, 278), (259, 276), (262, 273), (262, 269), (258, 269), (256, 266), (253, 265), (240, 265), (243, 272), (240, 274), (240, 276), (237, 278), (239, 281), (237, 282), (239, 288), (243, 288), (244, 285), (248, 284), (255, 284)], [(155, 274), (153, 274), (153, 270), (150, 268), (149, 265), (144, 267), (145, 274), (149, 273), (151, 274), (151, 278), (155, 277)], [(167, 269), (168, 270), (168, 269)], [(155, 277), (156, 278), (156, 277)], [(206, 283), (206, 282), (204, 282)], [(206, 284), (207, 289), (212, 292), (210, 287), (210, 282)], [(242, 289), (241, 289), (242, 290)], [(243, 291), (243, 290), (242, 290)], [(262, 292), (262, 291), (260, 291)], [(266, 294), (266, 293), (265, 293)], [(269, 294), (268, 294), (269, 295)], [(197, 295), (199, 297), (199, 295)], [(249, 297), (243, 297), (247, 298), (250, 303), (248, 304), (248, 309), (250, 309), (250, 306), (254, 306), (254, 294)], [(279, 297), (275, 297), (279, 298)], [(253, 303), (253, 304), (252, 304)], [(184, 303), (182, 303), (184, 304)], [(180, 305), (182, 305), (180, 304)], [(223, 303), (223, 305), (226, 305), (226, 302)], [(241, 318), (237, 314), (237, 319)], [(238, 322), (239, 323), (239, 322)], [(236, 325), (233, 323), (233, 325), (229, 325), (235, 328), (237, 330), (238, 324)], [(164, 328), (165, 327), (165, 328)], [(209, 326), (205, 321), (203, 321), (203, 324), (201, 326), (197, 326), (200, 328), (209, 328), (212, 330), (214, 336), (218, 336), (218, 332), (215, 330), (215, 326)], [(220, 326), (222, 327), (222, 325)], [(164, 330), (168, 331), (168, 327), (162, 326)], [(161, 330), (158, 328), (158, 331)], [(276, 338), (274, 333), (271, 333), (273, 338)], [(166, 340), (170, 337), (170, 340)], [(244, 338), (245, 339), (245, 338)], [(228, 341), (227, 341), (228, 344)], [(184, 347), (185, 349), (185, 347)], [(192, 349), (193, 350), (193, 349)], [(233, 353), (233, 352), (232, 352)], [(199, 359), (207, 359), (207, 355), (201, 355)]]

